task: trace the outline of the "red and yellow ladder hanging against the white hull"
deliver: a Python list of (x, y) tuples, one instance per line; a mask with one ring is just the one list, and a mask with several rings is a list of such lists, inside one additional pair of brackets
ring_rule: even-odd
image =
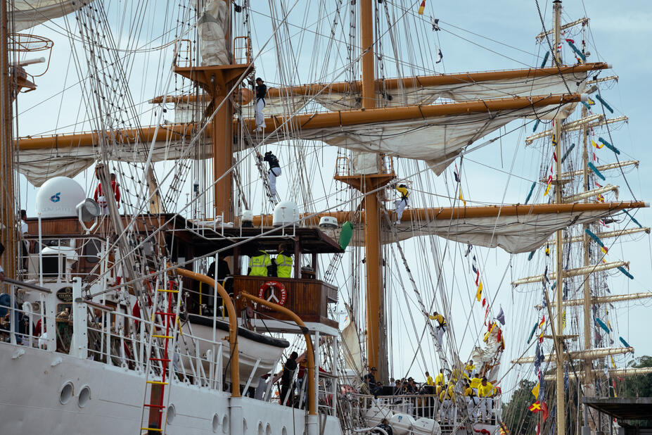
[[(174, 357), (170, 357), (175, 354), (174, 349), (177, 346), (180, 307), (181, 298), (177, 282), (170, 279), (167, 289), (160, 289), (156, 286), (146, 353), (146, 386), (141, 412), (141, 430), (165, 433), (165, 424), (163, 424), (165, 405), (163, 403), (165, 387), (170, 384), (174, 374)], [(158, 424), (158, 428), (150, 428), (152, 423)]]

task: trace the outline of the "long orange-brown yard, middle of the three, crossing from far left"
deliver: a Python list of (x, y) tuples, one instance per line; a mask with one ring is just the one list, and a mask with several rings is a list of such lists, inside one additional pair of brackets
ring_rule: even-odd
[[(430, 106), (402, 106), (390, 108), (371, 108), (357, 111), (337, 111), (326, 113), (309, 113), (304, 115), (281, 116), (274, 115), (265, 118), (267, 126), (274, 128), (289, 122), (296, 128), (302, 130), (317, 129), (325, 127), (337, 127), (339, 125), (359, 125), (373, 122), (392, 122), (399, 120), (413, 120), (433, 118), (445, 115), (460, 115), (462, 113), (487, 113), (487, 111), (509, 111), (530, 106), (541, 107), (554, 104), (577, 103), (580, 101), (579, 94), (565, 94), (553, 96), (532, 96), (516, 97), (508, 99), (492, 99), (467, 101), (464, 103), (433, 104)], [(234, 120), (234, 127), (238, 120)], [(245, 124), (250, 130), (255, 129), (255, 120), (245, 119)], [(189, 138), (196, 125), (173, 124), (159, 127), (156, 135), (157, 141), (165, 141), (177, 137)], [(154, 139), (155, 126), (143, 127), (139, 130), (124, 129), (114, 132), (119, 142), (133, 144), (136, 139), (141, 142), (148, 142)], [(211, 133), (210, 129), (207, 132)], [(41, 137), (19, 137), (18, 149), (21, 151), (34, 149), (70, 148), (75, 146), (92, 146), (98, 144), (97, 132), (56, 134)]]

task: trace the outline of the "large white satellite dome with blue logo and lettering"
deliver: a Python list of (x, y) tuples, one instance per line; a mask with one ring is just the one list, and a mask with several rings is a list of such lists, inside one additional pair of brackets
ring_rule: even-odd
[(74, 179), (54, 177), (39, 187), (37, 213), (41, 213), (41, 217), (77, 217), (77, 204), (84, 199), (86, 193)]

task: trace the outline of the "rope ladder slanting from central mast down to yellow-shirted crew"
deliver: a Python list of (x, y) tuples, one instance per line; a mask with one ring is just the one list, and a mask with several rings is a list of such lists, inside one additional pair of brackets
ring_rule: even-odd
[[(388, 211), (387, 210), (383, 210), (383, 211), (385, 212), (385, 220), (388, 222), (389, 227), (392, 231), (392, 236), (394, 237), (394, 243), (399, 251), (401, 259), (403, 260), (403, 265), (405, 267), (405, 270), (407, 271), (407, 276), (409, 277), (409, 280), (412, 284), (412, 289), (414, 289), (414, 294), (416, 295), (416, 300), (418, 301), (419, 308), (421, 308), (421, 311), (423, 311), (424, 315), (428, 315), (428, 309), (426, 308), (426, 304), (423, 303), (423, 298), (421, 298), (421, 292), (418, 291), (418, 286), (416, 285), (416, 281), (414, 280), (414, 276), (412, 275), (412, 272), (410, 270), (409, 263), (407, 263), (407, 258), (405, 258), (405, 254), (403, 253), (403, 248), (401, 247), (401, 244), (399, 244), (398, 234), (396, 232), (396, 226), (392, 225), (392, 219), (390, 218)], [(447, 370), (451, 370), (451, 372), (452, 370), (456, 370), (457, 372), (459, 372), (459, 378), (461, 380), (462, 373), (464, 373), (464, 370), (461, 367), (459, 367), (459, 355), (455, 353), (454, 346), (451, 346), (453, 351), (453, 360), (449, 362), (444, 352), (444, 346), (442, 346), (442, 344), (437, 340), (437, 332), (435, 332), (433, 323), (426, 320), (426, 326), (428, 327), (428, 332), (430, 332), (430, 336), (433, 338), (433, 341), (435, 343), (435, 348), (437, 349), (437, 355), (440, 358), (442, 366), (446, 367)], [(455, 365), (458, 365), (458, 367), (455, 367)], [(455, 394), (456, 403), (463, 404), (457, 408), (457, 415), (459, 417), (459, 420), (461, 420), (461, 422), (464, 422), (464, 428), (466, 429), (466, 433), (469, 435), (473, 435), (473, 430), (474, 430), (473, 422), (471, 422), (471, 416), (468, 415), (468, 408), (466, 407), (466, 397), (464, 397), (464, 391), (460, 391), (460, 389), (457, 388), (457, 386), (453, 389), (453, 391)]]

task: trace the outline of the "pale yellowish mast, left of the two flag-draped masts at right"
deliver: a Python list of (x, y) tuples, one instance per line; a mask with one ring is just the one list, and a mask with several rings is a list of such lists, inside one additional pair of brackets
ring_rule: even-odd
[[(559, 42), (561, 39), (561, 0), (555, 0), (553, 2), (553, 11), (554, 11), (554, 63), (556, 66), (561, 65), (561, 51), (558, 49)], [(554, 133), (553, 133), (553, 145), (555, 147), (556, 153), (556, 184), (555, 184), (555, 203), (562, 203), (561, 197), (561, 119), (554, 120)], [(557, 240), (556, 240), (556, 270), (557, 270), (557, 334), (554, 336), (555, 340), (555, 350), (557, 356), (557, 367), (556, 367), (556, 384), (557, 384), (557, 434), (566, 433), (566, 417), (565, 417), (565, 406), (564, 403), (564, 391), (563, 391), (563, 367), (564, 367), (564, 341), (563, 341), (563, 263), (562, 263), (562, 231), (559, 229), (557, 231)], [(551, 320), (552, 321), (552, 320)]]

